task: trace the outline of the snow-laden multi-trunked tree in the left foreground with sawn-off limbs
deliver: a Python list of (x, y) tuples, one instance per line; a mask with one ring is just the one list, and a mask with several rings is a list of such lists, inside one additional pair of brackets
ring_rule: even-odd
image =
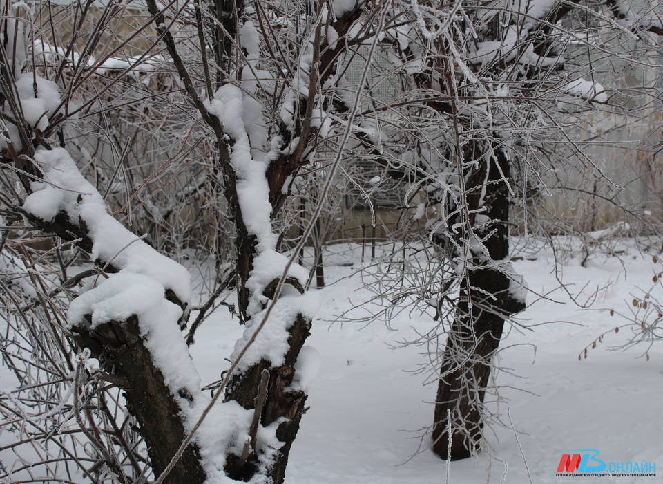
[[(282, 482), (305, 411), (307, 360), (312, 353), (302, 353), (302, 346), (316, 295), (305, 290), (308, 271), (294, 263), (312, 229), (305, 230), (300, 246), (286, 257), (277, 250), (273, 218), (300, 169), (316, 160), (318, 140), (326, 136), (329, 124), (322, 113), (334, 102), (342, 82), (337, 67), (348, 44), (338, 39), (345, 37), (361, 9), (354, 3), (334, 10), (306, 2), (245, 6), (148, 1), (146, 21), (111, 48), (113, 53), (131, 47), (138, 55), (117, 59), (99, 39), (111, 30), (111, 19), (122, 17), (130, 7), (94, 6), (94, 15), (91, 2), (58, 8), (75, 25), (62, 45), (52, 29), (55, 6), (42, 11), (46, 21), (37, 24), (35, 10), (21, 5), (18, 17), (3, 3), (3, 183), (9, 187), (3, 210), (12, 220), (22, 216), (28, 224), (8, 223), (3, 232), (8, 250), (3, 268), (18, 269), (3, 272), (14, 296), (6, 301), (6, 314), (17, 321), (17, 337), (30, 333), (31, 321), (55, 324), (50, 330), (55, 346), (43, 348), (32, 341), (25, 349), (30, 353), (41, 348), (48, 365), (39, 368), (61, 375), (52, 383), (61, 392), (59, 403), (46, 403), (44, 411), (31, 416), (39, 436), (25, 441), (52, 438), (44, 421), (57, 415), (59, 423), (52, 432), (59, 445), (51, 455), (40, 443), (46, 456), (32, 467), (43, 465), (52, 472), (48, 463), (53, 459), (71, 460), (76, 472), (93, 480), (122, 482), (150, 474), (158, 482)], [(77, 30), (87, 15), (99, 17), (89, 36)], [(135, 38), (142, 44), (131, 44)], [(162, 55), (155, 48), (163, 48)], [(155, 57), (157, 61), (146, 64)], [(193, 302), (189, 272), (108, 213), (104, 194), (79, 170), (89, 160), (73, 158), (92, 141), (76, 144), (68, 137), (71, 131), (64, 129), (80, 130), (81, 113), (87, 117), (90, 111), (106, 113), (116, 106), (102, 94), (118, 82), (140, 80), (140, 73), (153, 71), (155, 62), (162, 74), (173, 68), (175, 84), (182, 86), (177, 91), (187, 107), (178, 100), (175, 107), (191, 124), (180, 129), (211, 138), (212, 162), (206, 176), (215, 187), (212, 196), (224, 201), (212, 198), (210, 205), (212, 210), (228, 210), (233, 222), (232, 232), (219, 232), (217, 237), (233, 239), (236, 248), (237, 310), (246, 329), (212, 398), (202, 391), (188, 353), (195, 326), (182, 334)], [(126, 104), (173, 102), (172, 89), (141, 82), (133, 89), (143, 90), (143, 95), (128, 95)], [(152, 112), (145, 106), (148, 118)], [(86, 133), (78, 131), (77, 136)], [(127, 140), (116, 173), (131, 156), (130, 146)], [(114, 179), (115, 174), (102, 181), (112, 184)], [(124, 185), (127, 192), (134, 189), (126, 178)], [(320, 189), (318, 214), (328, 191), (329, 183)], [(126, 212), (131, 214), (128, 208)], [(158, 213), (159, 207), (150, 212)], [(29, 229), (57, 238), (55, 249), (47, 250), (55, 250), (61, 261), (57, 277), (46, 277), (44, 270), (36, 276), (39, 281), (28, 276), (30, 263), (21, 260), (17, 248), (25, 248), (24, 231)], [(61, 248), (72, 246), (77, 248), (75, 256), (63, 260)], [(67, 277), (67, 268), (79, 257), (92, 268)], [(84, 288), (72, 292), (81, 281)], [(203, 308), (211, 304), (213, 299)], [(27, 319), (25, 308), (30, 310)], [(22, 353), (12, 356), (29, 361)], [(34, 371), (28, 364), (17, 372), (27, 393), (35, 388), (30, 378)], [(108, 398), (102, 382), (122, 389), (122, 398), (114, 394), (111, 410), (100, 415), (105, 405), (101, 402)], [(69, 395), (73, 405), (63, 411)], [(33, 400), (23, 393), (21, 398)], [(93, 401), (95, 411), (89, 411)], [(20, 403), (16, 408), (22, 411)], [(124, 422), (112, 418), (118, 411)], [(68, 412), (76, 416), (75, 431), (86, 438), (82, 447), (65, 443), (66, 432), (59, 434)], [(23, 425), (16, 422), (15, 427), (21, 434)], [(17, 440), (15, 445), (22, 443)], [(81, 451), (90, 457), (81, 458)]]

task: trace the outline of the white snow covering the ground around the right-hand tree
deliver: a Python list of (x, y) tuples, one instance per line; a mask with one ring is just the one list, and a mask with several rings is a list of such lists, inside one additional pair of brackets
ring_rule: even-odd
[[(327, 262), (339, 265), (326, 268), (327, 281), (352, 274), (358, 253), (341, 246), (330, 252), (337, 254), (328, 255)], [(536, 326), (526, 334), (511, 331), (502, 345), (510, 347), (501, 353), (501, 366), (518, 376), (500, 373), (497, 383), (506, 387), (501, 394), (510, 400), (500, 410), (507, 425), (510, 413), (525, 458), (514, 431), (497, 427), (488, 436), (492, 452), (451, 464), (451, 483), (528, 483), (525, 460), (534, 483), (577, 482), (555, 476), (561, 453), (569, 449), (598, 449), (607, 461), (658, 463), (657, 478), (619, 477), (615, 482), (661, 479), (663, 343), (651, 348), (649, 361), (640, 357), (643, 346), (608, 351), (626, 341), (628, 331), (623, 330), (607, 335), (586, 360), (577, 360), (586, 344), (624, 323), (607, 310), (627, 312), (635, 286), (649, 288), (654, 273), (651, 257), (641, 257), (635, 250), (622, 254), (625, 272), (616, 257), (595, 255), (583, 268), (578, 255), (573, 255), (559, 270), (570, 292), (580, 299), (603, 288), (593, 310), (580, 310), (566, 292), (555, 290), (548, 295), (553, 300), (537, 301), (521, 319), (529, 324), (558, 323)], [(536, 257), (514, 266), (532, 290), (554, 290), (559, 284), (551, 252)], [(323, 306), (309, 339), (320, 352), (322, 366), (310, 389), (311, 408), (291, 452), (287, 484), (445, 483), (446, 463), (425, 449), (426, 442), (423, 452), (416, 454), (420, 429), (432, 420), (430, 402), (435, 393), (434, 384), (422, 385), (424, 375), (412, 375), (425, 357), (421, 348), (390, 348), (413, 337), (412, 328), (426, 331), (432, 321), (402, 314), (391, 322), (392, 331), (382, 322), (362, 328), (330, 326), (325, 320), (347, 308), (349, 299), (359, 301), (367, 293), (353, 277), (328, 286), (322, 295)], [(528, 301), (532, 299), (530, 294)], [(234, 337), (229, 336), (236, 332), (236, 322), (229, 320), (224, 308), (202, 326), (193, 356), (204, 380), (218, 379), (218, 369), (227, 366), (222, 357), (231, 352)], [(536, 345), (536, 355), (529, 344)], [(605, 477), (581, 480), (611, 482)]]

